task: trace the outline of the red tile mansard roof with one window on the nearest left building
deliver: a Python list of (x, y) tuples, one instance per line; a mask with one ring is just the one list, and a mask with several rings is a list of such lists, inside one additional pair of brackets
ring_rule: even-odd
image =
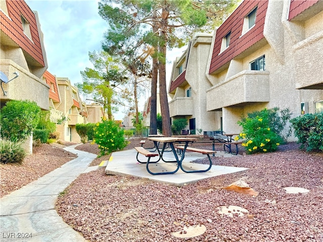
[[(28, 5), (20, 1), (6, 1), (8, 15), (0, 11), (0, 27), (3, 33), (9, 36), (23, 50), (30, 54), (41, 66), (45, 66), (38, 34), (38, 26), (35, 14)], [(23, 31), (21, 15), (29, 22), (32, 41)]]

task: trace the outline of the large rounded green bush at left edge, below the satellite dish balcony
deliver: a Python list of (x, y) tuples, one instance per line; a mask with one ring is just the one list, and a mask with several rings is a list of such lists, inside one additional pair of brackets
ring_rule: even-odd
[(36, 102), (11, 100), (1, 109), (1, 136), (11, 141), (23, 141), (36, 129), (40, 107)]

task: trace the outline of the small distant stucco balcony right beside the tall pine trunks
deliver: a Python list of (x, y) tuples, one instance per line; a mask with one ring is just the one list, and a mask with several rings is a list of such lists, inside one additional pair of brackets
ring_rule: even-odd
[(169, 102), (170, 116), (193, 115), (193, 98), (177, 97)]

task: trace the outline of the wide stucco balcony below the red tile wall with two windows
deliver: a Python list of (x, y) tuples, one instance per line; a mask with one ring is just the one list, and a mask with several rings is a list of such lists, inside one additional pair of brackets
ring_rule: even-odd
[(270, 101), (269, 72), (242, 71), (206, 90), (206, 109)]

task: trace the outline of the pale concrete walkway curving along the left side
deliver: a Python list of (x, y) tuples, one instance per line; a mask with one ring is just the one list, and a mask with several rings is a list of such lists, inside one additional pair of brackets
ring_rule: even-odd
[(58, 195), (96, 157), (75, 150), (76, 146), (64, 149), (77, 154), (77, 158), (0, 199), (0, 241), (87, 241), (55, 209)]

